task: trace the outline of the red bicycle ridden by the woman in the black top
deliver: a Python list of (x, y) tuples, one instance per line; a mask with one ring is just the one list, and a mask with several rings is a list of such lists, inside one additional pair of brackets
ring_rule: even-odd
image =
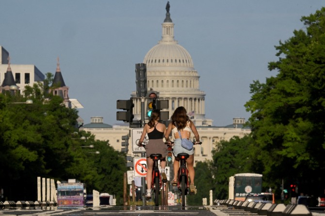
[[(166, 180), (162, 180), (160, 176), (160, 171), (158, 168), (158, 161), (162, 158), (162, 154), (150, 154), (150, 158), (154, 161), (153, 169), (152, 169), (152, 183), (151, 188), (154, 194), (155, 205), (159, 205), (159, 190), (162, 188), (162, 197), (164, 197), (164, 185), (163, 183), (167, 182)], [(163, 200), (162, 200), (163, 201)]]

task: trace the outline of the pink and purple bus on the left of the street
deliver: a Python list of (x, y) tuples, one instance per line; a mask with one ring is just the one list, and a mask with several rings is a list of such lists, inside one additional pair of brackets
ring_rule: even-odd
[(85, 191), (84, 184), (75, 179), (59, 182), (57, 185), (58, 208), (83, 208)]

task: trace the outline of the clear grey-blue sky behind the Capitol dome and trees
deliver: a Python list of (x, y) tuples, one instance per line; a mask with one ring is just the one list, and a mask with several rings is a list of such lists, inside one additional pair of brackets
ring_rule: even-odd
[[(276, 76), (275, 46), (306, 29), (302, 16), (324, 0), (169, 0), (175, 40), (191, 55), (214, 126), (248, 120), (250, 84)], [(84, 123), (116, 121), (116, 101), (135, 91), (135, 64), (162, 37), (167, 0), (0, 0), (0, 46), (12, 64), (55, 73), (57, 57), (69, 97)]]

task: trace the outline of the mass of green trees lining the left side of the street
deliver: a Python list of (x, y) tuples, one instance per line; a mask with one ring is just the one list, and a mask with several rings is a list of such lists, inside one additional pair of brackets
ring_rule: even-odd
[[(96, 189), (113, 194), (120, 203), (127, 170), (125, 154), (115, 151), (108, 140), (95, 140), (90, 133), (79, 131), (78, 111), (66, 108), (61, 97), (43, 89), (37, 83), (26, 87), (22, 95), (0, 93), (0, 188), (4, 199), (35, 201), (40, 176), (55, 182), (80, 180), (88, 192)], [(27, 99), (33, 104), (24, 103)], [(89, 145), (94, 148), (84, 148)], [(96, 151), (99, 154), (93, 154)]]

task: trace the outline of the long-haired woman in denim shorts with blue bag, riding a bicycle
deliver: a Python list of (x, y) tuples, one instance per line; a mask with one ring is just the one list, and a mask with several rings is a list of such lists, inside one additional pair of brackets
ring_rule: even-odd
[[(186, 114), (186, 109), (184, 107), (178, 107), (175, 109), (174, 114), (172, 115), (172, 121), (169, 123), (167, 131), (165, 133), (166, 142), (170, 142), (169, 134), (172, 132), (175, 137), (175, 143), (173, 148), (173, 154), (176, 156), (174, 160), (174, 180), (172, 181), (172, 185), (177, 185), (177, 175), (179, 171), (179, 158), (177, 155), (179, 153), (187, 153), (190, 156), (186, 159), (187, 169), (189, 170), (190, 176), (190, 192), (196, 194), (196, 188), (194, 185), (194, 148), (192, 150), (187, 150), (180, 145), (181, 139), (179, 138), (180, 131), (181, 137), (184, 139), (191, 138), (191, 131), (195, 136), (195, 143), (200, 143), (200, 137), (196, 130), (194, 123), (190, 120), (190, 118)], [(173, 145), (173, 144), (171, 144)]]

